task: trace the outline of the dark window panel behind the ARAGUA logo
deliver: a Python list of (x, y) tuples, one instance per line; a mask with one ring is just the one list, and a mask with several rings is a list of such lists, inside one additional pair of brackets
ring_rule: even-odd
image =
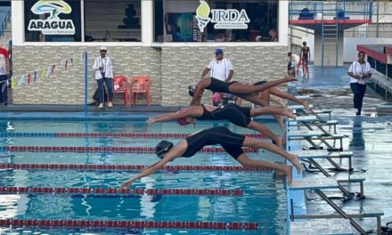
[(80, 42), (80, 1), (24, 1), (26, 42)]

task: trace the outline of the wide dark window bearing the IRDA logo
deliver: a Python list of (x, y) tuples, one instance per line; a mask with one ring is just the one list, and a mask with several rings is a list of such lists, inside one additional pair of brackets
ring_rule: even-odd
[[(156, 42), (277, 42), (271, 0), (156, 0)], [(163, 30), (162, 30), (163, 28)]]

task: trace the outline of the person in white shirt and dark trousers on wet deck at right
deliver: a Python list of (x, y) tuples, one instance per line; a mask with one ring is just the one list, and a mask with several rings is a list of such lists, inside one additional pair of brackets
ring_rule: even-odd
[(358, 53), (358, 61), (354, 61), (350, 69), (348, 69), (348, 75), (350, 76), (350, 87), (354, 93), (354, 109), (356, 109), (356, 115), (361, 115), (363, 96), (366, 92), (365, 80), (372, 77), (371, 65), (368, 61), (365, 61), (366, 53), (363, 51)]

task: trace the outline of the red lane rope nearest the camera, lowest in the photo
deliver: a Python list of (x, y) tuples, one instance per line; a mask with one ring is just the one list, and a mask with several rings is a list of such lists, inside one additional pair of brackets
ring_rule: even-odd
[(88, 220), (0, 220), (0, 226), (59, 228), (124, 228), (124, 229), (203, 229), (257, 230), (258, 223), (183, 222), (183, 221), (88, 221)]

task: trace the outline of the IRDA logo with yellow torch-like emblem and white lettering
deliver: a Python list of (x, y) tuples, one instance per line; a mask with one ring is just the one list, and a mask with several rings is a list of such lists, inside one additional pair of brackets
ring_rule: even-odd
[[(245, 9), (238, 11), (236, 9), (210, 9), (205, 0), (199, 0), (200, 5), (196, 9), (196, 20), (201, 32), (209, 22), (215, 23), (217, 29), (246, 29), (250, 22)], [(211, 13), (211, 18), (209, 14)]]

